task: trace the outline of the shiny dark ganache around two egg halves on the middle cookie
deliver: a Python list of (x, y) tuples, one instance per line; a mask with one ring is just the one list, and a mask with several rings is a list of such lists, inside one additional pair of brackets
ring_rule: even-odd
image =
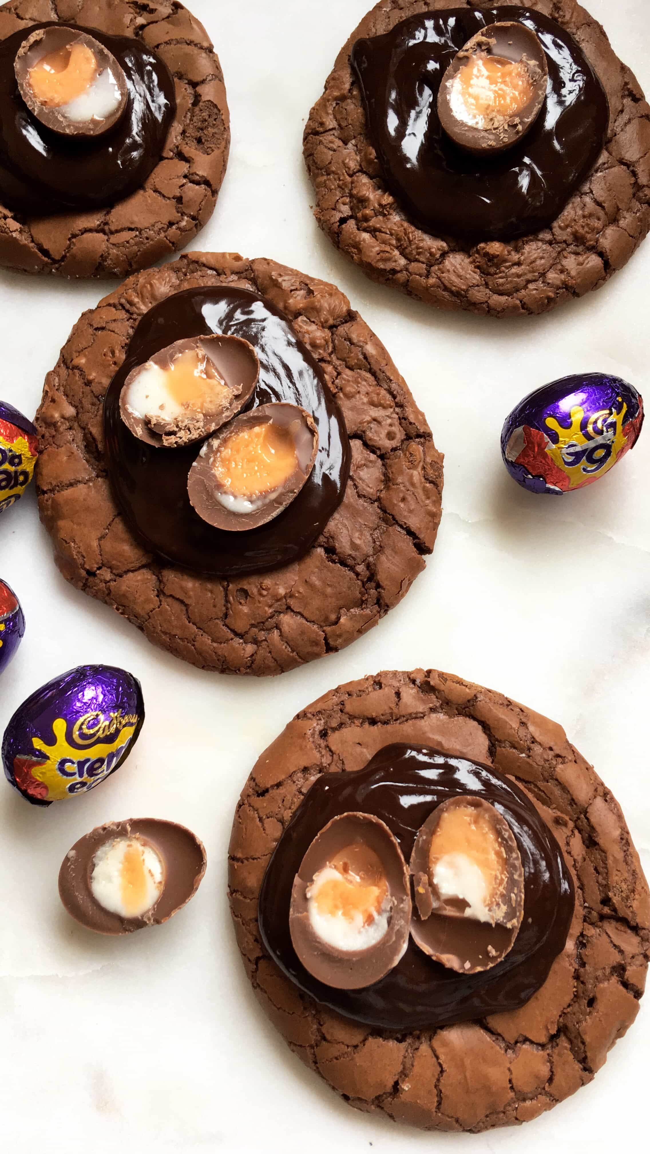
[[(267, 525), (230, 533), (202, 520), (189, 503), (187, 478), (200, 444), (156, 449), (120, 418), (120, 392), (133, 368), (174, 340), (223, 332), (242, 337), (260, 360), (246, 410), (276, 400), (312, 414), (319, 451), (294, 501)], [(350, 442), (321, 368), (270, 301), (229, 285), (187, 288), (155, 305), (140, 321), (104, 402), (109, 474), (117, 501), (147, 548), (173, 564), (218, 577), (277, 569), (304, 556), (343, 500)]]

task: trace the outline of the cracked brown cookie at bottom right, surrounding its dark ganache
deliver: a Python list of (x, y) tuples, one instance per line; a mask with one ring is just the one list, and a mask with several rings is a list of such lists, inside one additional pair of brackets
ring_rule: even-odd
[[(448, 763), (447, 772), (462, 774), (469, 767), (484, 779), (498, 778), (499, 788), (516, 793), (522, 811), (528, 807), (533, 824), (537, 820), (551, 834), (560, 871), (570, 874), (573, 886), (558, 890), (558, 908), (569, 897), (570, 901), (561, 937), (546, 959), (548, 976), (539, 986), (538, 974), (537, 992), (523, 1003), (520, 997), (518, 1009), (488, 1010), (473, 1018), (465, 1009), (454, 1017), (443, 1001), (440, 1012), (450, 1025), (408, 1026), (418, 989), (426, 992), (426, 988), (410, 982), (402, 987), (404, 997), (390, 1004), (386, 984), (390, 974), (371, 988), (365, 1001), (359, 998), (364, 990), (331, 990), (321, 983), (326, 1005), (304, 992), (309, 975), (286, 957), (283, 972), (262, 942), (261, 891), (264, 941), (275, 950), (279, 938), (284, 949), (286, 930), (269, 922), (269, 911), (278, 909), (274, 891), (283, 881), (283, 855), (291, 864), (302, 853), (302, 802), (308, 790), (329, 775), (326, 789), (315, 786), (323, 822), (331, 816), (331, 796), (337, 793), (350, 810), (387, 809), (386, 780), (378, 785), (373, 779), (371, 788), (369, 769), (364, 766), (371, 758), (376, 765), (388, 745), (393, 757), (406, 750), (411, 758), (423, 747), (433, 747), (443, 755), (433, 760), (463, 759)], [(475, 762), (479, 765), (472, 769)], [(408, 775), (398, 780), (404, 782)], [(426, 774), (420, 778), (425, 785), (426, 780)], [(406, 786), (402, 788), (406, 792)], [(472, 784), (463, 789), (480, 793)], [(421, 803), (419, 793), (421, 786), (411, 788), (409, 808)], [(307, 805), (307, 812), (313, 824), (314, 808)], [(393, 832), (408, 862), (413, 837), (406, 845), (404, 815), (402, 810), (402, 824)], [(421, 819), (420, 814), (414, 824)], [(361, 1110), (381, 1110), (438, 1130), (476, 1132), (525, 1122), (590, 1081), (636, 1017), (650, 952), (650, 898), (619, 805), (559, 725), (460, 677), (431, 669), (381, 673), (342, 685), (300, 712), (262, 754), (242, 790), (229, 865), (237, 939), (260, 1002), (305, 1064)], [(266, 875), (274, 884), (264, 891)], [(530, 932), (531, 921), (535, 909), (526, 905), (521, 935)], [(538, 927), (541, 932), (545, 921)], [(413, 950), (418, 954), (411, 944), (409, 951)], [(408, 959), (409, 953), (395, 973)], [(423, 967), (429, 967), (428, 981), (438, 964), (420, 956), (417, 965), (417, 971), (406, 973), (417, 973), (424, 982)], [(457, 1003), (466, 995), (462, 983), (473, 981), (477, 984), (468, 989), (485, 989), (481, 974), (450, 975), (442, 966), (435, 974), (438, 984), (441, 975), (450, 976), (446, 988), (461, 991)], [(515, 1004), (515, 977), (511, 990), (508, 981), (500, 981), (500, 1004)], [(402, 1028), (380, 1027), (382, 1017), (401, 1021)]]

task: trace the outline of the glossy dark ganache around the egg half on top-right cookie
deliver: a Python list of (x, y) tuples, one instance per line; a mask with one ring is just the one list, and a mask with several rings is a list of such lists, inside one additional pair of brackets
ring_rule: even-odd
[[(520, 143), (475, 156), (444, 133), (440, 84), (456, 53), (490, 24), (515, 21), (546, 53), (546, 99)], [(548, 227), (592, 171), (608, 123), (605, 90), (574, 37), (530, 8), (421, 13), (352, 48), (371, 140), (404, 212), (434, 234), (513, 240)]]

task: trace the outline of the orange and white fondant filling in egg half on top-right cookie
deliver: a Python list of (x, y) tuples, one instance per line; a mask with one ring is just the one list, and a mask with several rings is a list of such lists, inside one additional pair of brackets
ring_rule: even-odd
[(515, 117), (532, 98), (525, 63), (480, 53), (458, 69), (456, 91), (468, 121), (479, 128)]

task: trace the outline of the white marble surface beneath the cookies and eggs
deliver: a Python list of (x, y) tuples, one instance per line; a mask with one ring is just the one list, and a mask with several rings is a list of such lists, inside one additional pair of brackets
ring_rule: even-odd
[[(587, 0), (650, 89), (645, 0)], [(195, 247), (270, 256), (335, 280), (379, 334), (446, 454), (434, 557), (351, 649), (279, 680), (217, 677), (159, 653), (58, 575), (33, 494), (2, 517), (0, 576), (29, 632), (0, 688), (0, 732), (37, 684), (84, 661), (132, 669), (147, 724), (96, 792), (38, 810), (0, 787), (0, 1133), (12, 1154), (531, 1154), (647, 1141), (650, 1006), (593, 1084), (524, 1131), (421, 1134), (357, 1114), (257, 1010), (234, 946), (225, 861), (234, 804), (278, 729), (328, 688), (432, 665), (559, 720), (612, 787), (650, 867), (650, 429), (613, 473), (563, 499), (529, 495), (499, 455), (506, 413), (566, 373), (607, 369), (650, 395), (650, 241), (597, 294), (538, 320), (438, 315), (372, 285), (319, 233), (302, 123), (367, 0), (193, 0), (219, 52), (230, 168)], [(82, 309), (105, 290), (0, 276), (0, 395), (31, 415)], [(650, 399), (650, 396), (648, 397)], [(127, 939), (76, 927), (57, 894), (82, 833), (151, 815), (192, 826), (206, 881), (169, 926)]]

